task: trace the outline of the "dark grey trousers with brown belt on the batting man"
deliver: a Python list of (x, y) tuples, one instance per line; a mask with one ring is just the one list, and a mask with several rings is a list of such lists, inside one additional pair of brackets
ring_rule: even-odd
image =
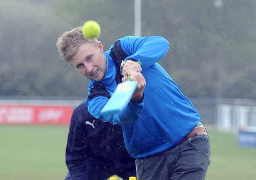
[(204, 180), (210, 152), (209, 136), (196, 135), (163, 155), (136, 159), (137, 180)]

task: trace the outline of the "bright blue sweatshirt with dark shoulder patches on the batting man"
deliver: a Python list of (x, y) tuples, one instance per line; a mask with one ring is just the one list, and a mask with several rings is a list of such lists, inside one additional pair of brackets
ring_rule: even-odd
[[(117, 41), (120, 42), (119, 48), (112, 45), (104, 52), (107, 63), (104, 78), (90, 81), (87, 98), (90, 114), (104, 122), (122, 124), (125, 146), (136, 159), (173, 148), (199, 123), (200, 115), (157, 63), (167, 53), (168, 41), (160, 36), (127, 36)], [(147, 84), (142, 102), (129, 102), (120, 113), (101, 116), (101, 109), (117, 87), (116, 75), (120, 67), (112, 58), (113, 49), (122, 51), (125, 60), (142, 62), (142, 75)], [(105, 93), (98, 93), (98, 89), (103, 89)]]

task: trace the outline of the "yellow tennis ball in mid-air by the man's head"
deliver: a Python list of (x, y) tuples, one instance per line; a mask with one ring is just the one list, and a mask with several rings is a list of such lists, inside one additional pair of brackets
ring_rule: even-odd
[(84, 38), (98, 38), (101, 34), (101, 28), (96, 21), (86, 21), (83, 26)]

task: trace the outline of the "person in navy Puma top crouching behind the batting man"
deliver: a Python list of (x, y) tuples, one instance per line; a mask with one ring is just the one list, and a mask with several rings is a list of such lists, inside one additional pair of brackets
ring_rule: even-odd
[(93, 118), (82, 102), (73, 112), (66, 147), (68, 175), (65, 180), (124, 180), (136, 175), (135, 159), (123, 142), (121, 126)]

